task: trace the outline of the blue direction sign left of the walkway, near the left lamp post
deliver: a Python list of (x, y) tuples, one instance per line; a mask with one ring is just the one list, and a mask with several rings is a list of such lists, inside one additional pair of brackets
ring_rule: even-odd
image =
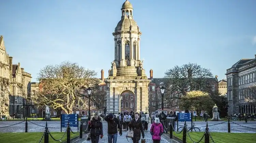
[(61, 127), (78, 127), (78, 114), (61, 114)]

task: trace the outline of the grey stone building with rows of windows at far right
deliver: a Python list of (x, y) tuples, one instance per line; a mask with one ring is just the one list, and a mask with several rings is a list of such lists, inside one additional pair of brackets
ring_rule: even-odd
[(227, 69), (226, 76), (228, 113), (255, 113), (255, 106), (246, 102), (244, 97), (248, 95), (248, 88), (256, 86), (256, 55), (254, 59), (241, 59), (236, 62)]

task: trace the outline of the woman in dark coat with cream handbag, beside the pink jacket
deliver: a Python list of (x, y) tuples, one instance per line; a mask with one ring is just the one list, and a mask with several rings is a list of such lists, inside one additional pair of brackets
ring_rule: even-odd
[(142, 121), (139, 118), (139, 113), (136, 112), (134, 114), (134, 116), (135, 117), (129, 123), (129, 129), (133, 130), (133, 138), (132, 138), (133, 143), (139, 143), (141, 134), (142, 134), (143, 139), (145, 137), (145, 134), (144, 134), (144, 130), (143, 130)]

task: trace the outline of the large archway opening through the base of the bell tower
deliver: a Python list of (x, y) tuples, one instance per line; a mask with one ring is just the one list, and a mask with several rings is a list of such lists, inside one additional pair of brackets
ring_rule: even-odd
[(120, 112), (136, 111), (135, 96), (130, 91), (125, 91), (120, 95)]

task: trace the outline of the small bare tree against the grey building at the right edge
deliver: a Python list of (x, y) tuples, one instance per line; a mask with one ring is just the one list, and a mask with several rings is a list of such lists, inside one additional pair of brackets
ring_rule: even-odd
[(256, 107), (256, 86), (246, 88), (246, 94), (244, 95), (244, 101)]

